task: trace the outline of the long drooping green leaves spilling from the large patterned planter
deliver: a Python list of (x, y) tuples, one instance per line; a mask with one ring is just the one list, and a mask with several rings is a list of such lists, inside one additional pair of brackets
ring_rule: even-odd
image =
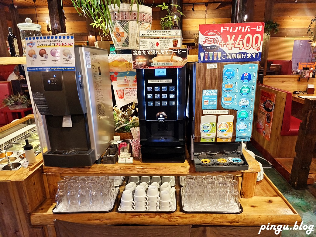
[[(111, 12), (109, 5), (115, 4), (120, 7), (121, 0), (71, 0), (79, 15), (89, 17), (94, 23), (92, 27), (98, 28), (102, 35), (107, 35), (111, 27)], [(138, 5), (143, 4), (144, 0), (122, 0), (122, 3)]]

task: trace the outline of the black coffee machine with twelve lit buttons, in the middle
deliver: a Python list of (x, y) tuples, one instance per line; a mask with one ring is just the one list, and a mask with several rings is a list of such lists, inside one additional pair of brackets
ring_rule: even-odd
[(185, 67), (137, 70), (143, 162), (185, 161)]

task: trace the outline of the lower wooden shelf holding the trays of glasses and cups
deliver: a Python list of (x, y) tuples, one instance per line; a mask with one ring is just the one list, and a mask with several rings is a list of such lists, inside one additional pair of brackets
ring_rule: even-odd
[[(121, 187), (122, 188), (122, 187)], [(121, 190), (122, 191), (122, 190)], [(179, 194), (179, 189), (177, 190)], [(179, 198), (178, 198), (179, 200)], [(255, 196), (242, 198), (244, 211), (241, 214), (186, 214), (178, 209), (167, 213), (118, 213), (117, 203), (112, 212), (89, 214), (53, 214), (53, 199), (46, 201), (31, 214), (33, 226), (54, 225), (54, 220), (97, 224), (97, 225), (229, 225), (229, 226), (260, 226), (262, 224), (294, 224), (301, 222), (301, 217), (284, 198), (282, 193), (264, 175), (257, 182)]]

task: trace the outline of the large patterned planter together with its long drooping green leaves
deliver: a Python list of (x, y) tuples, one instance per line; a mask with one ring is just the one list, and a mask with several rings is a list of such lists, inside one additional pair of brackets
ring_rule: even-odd
[(117, 50), (139, 49), (139, 31), (150, 30), (152, 9), (143, 0), (71, 0), (80, 15), (89, 17), (103, 35), (111, 33)]

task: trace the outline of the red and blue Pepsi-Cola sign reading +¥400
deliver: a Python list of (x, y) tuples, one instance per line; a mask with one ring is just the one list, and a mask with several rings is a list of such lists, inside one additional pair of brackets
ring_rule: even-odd
[(264, 23), (229, 23), (199, 26), (199, 63), (261, 60)]

